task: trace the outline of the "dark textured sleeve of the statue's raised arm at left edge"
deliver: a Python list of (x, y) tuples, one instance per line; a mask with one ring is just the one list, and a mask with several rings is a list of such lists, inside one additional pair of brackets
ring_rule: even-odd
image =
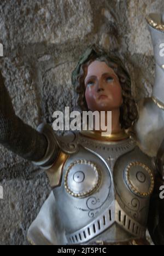
[(48, 148), (46, 137), (15, 115), (0, 72), (0, 143), (30, 161), (42, 159)]

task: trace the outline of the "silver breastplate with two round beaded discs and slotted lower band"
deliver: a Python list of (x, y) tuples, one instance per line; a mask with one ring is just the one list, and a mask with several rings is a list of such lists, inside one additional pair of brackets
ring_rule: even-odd
[(154, 187), (151, 161), (132, 139), (79, 136), (54, 189), (69, 244), (143, 238)]

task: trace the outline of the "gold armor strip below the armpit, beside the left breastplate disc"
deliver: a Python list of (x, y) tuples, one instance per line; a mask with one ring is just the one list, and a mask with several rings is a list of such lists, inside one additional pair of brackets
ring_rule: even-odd
[(46, 174), (50, 181), (50, 186), (52, 188), (55, 188), (58, 185), (60, 185), (63, 165), (65, 164), (68, 158), (69, 155), (61, 151), (54, 165), (49, 170), (46, 171)]

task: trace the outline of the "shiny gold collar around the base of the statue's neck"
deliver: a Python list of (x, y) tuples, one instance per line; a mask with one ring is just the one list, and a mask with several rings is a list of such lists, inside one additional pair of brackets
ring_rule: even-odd
[(100, 131), (80, 131), (80, 133), (85, 137), (97, 139), (98, 141), (122, 141), (130, 137), (124, 130), (107, 136), (103, 136)]

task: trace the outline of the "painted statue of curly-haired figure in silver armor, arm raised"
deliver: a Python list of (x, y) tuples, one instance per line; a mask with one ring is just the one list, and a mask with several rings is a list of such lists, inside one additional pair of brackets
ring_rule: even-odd
[[(148, 22), (164, 41), (161, 16)], [(162, 68), (156, 93), (162, 88)], [(164, 244), (163, 138), (152, 159), (128, 135), (138, 110), (124, 63), (118, 54), (92, 46), (81, 56), (72, 83), (81, 111), (112, 112), (112, 134), (95, 130), (60, 137), (46, 124), (32, 129), (16, 117), (1, 75), (0, 143), (44, 168), (52, 187), (28, 239), (36, 245), (149, 245), (148, 228), (154, 243)], [(153, 97), (153, 104), (162, 101), (160, 96), (159, 101)]]

